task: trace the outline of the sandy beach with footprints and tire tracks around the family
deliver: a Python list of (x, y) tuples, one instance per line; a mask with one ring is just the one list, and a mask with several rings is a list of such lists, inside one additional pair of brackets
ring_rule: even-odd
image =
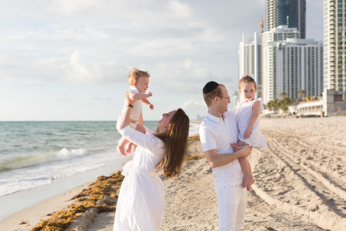
[[(248, 158), (256, 182), (248, 192), (242, 230), (346, 230), (346, 117), (262, 118), (261, 129), (268, 147), (254, 148)], [(190, 141), (189, 154), (203, 155), (199, 140)], [(179, 178), (163, 182), (162, 231), (218, 230), (213, 176), (205, 158), (190, 160)], [(0, 230), (30, 230), (47, 214), (76, 203), (69, 199), (80, 190), (21, 211), (2, 221)], [(88, 227), (76, 230), (112, 231), (114, 214), (95, 213)]]

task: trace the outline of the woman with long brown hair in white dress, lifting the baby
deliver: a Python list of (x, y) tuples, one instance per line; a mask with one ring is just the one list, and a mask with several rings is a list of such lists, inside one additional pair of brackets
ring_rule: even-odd
[(162, 114), (158, 129), (146, 134), (129, 126), (133, 101), (117, 121), (119, 133), (137, 145), (133, 161), (122, 171), (113, 231), (159, 231), (165, 210), (164, 187), (159, 175), (179, 176), (188, 153), (189, 117), (182, 109)]

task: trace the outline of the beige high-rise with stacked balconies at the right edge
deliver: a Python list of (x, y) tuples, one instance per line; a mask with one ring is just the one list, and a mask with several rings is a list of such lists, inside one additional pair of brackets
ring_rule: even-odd
[(324, 88), (346, 91), (346, 2), (324, 0)]

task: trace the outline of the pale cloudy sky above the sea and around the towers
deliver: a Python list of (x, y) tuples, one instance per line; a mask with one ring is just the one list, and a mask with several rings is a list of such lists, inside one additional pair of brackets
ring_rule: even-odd
[[(306, 1), (323, 40), (323, 0)], [(144, 120), (205, 116), (209, 81), (237, 90), (238, 46), (265, 0), (0, 0), (0, 121), (116, 120), (131, 68), (151, 74)], [(231, 99), (232, 100), (232, 99)]]

